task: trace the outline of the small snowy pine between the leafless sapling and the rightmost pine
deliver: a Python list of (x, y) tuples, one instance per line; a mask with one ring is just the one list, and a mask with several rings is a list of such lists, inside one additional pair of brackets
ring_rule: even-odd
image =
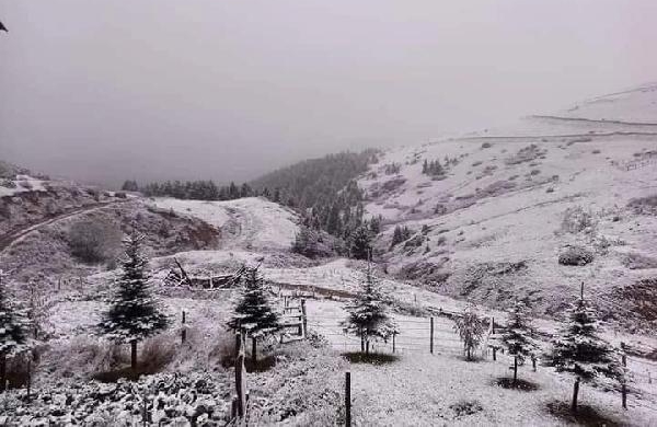
[(514, 385), (518, 380), (518, 363), (525, 363), (525, 359), (533, 357), (537, 351), (538, 347), (531, 337), (532, 334), (533, 330), (527, 314), (527, 307), (516, 300), (500, 339), (508, 354), (514, 356)]

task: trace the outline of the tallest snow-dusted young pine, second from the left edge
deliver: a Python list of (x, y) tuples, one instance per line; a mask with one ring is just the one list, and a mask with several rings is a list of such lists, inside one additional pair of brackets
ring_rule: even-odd
[(137, 368), (137, 343), (169, 326), (151, 296), (147, 272), (148, 259), (141, 254), (142, 235), (124, 239), (125, 257), (111, 308), (100, 323), (101, 332), (118, 343), (130, 343), (130, 366)]

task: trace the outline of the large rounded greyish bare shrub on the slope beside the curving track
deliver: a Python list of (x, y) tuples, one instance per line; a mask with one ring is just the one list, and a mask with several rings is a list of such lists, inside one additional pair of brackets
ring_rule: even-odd
[(115, 224), (82, 220), (69, 229), (68, 243), (73, 256), (85, 263), (101, 263), (116, 254), (120, 238)]

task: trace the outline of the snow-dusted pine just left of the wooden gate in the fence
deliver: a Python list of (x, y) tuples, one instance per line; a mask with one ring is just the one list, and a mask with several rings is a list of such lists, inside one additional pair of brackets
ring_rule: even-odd
[(242, 327), (249, 331), (253, 339), (251, 357), (255, 362), (257, 339), (280, 331), (281, 325), (278, 314), (272, 308), (265, 293), (263, 279), (257, 274), (257, 268), (251, 268), (242, 278), (242, 293), (233, 310), (233, 316), (228, 322), (228, 327), (232, 331), (240, 331)]

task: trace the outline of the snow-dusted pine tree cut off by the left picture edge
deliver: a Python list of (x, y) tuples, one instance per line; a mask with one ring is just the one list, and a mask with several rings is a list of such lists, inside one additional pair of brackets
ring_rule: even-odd
[(2, 277), (0, 269), (0, 390), (7, 384), (7, 358), (27, 349), (28, 326), (24, 313), (11, 300)]

